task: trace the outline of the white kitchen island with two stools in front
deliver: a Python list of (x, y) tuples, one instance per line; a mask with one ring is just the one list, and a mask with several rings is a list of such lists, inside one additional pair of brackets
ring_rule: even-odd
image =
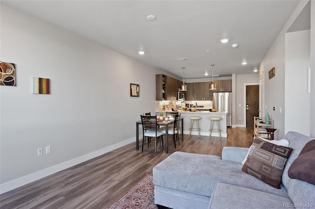
[[(182, 111), (179, 110), (178, 113), (181, 113), (181, 117), (184, 118), (184, 134), (189, 134), (190, 128), (190, 119), (191, 116), (198, 116), (200, 117), (200, 135), (202, 136), (209, 136), (209, 129), (210, 129), (210, 120), (209, 117), (221, 117), (220, 127), (221, 127), (221, 137), (227, 137), (227, 123), (226, 123), (226, 112), (209, 112), (209, 111)], [(158, 112), (156, 112), (158, 115)], [(165, 111), (164, 111), (165, 116)], [(196, 123), (193, 124), (194, 127)], [(214, 128), (216, 124), (214, 125)], [(191, 131), (191, 135), (198, 135), (198, 131)], [(218, 136), (219, 132), (213, 131), (212, 136)]]

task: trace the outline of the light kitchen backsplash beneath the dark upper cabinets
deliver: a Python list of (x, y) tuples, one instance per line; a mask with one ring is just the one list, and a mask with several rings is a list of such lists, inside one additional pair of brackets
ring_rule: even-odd
[[(184, 101), (185, 105), (189, 105), (188, 108), (196, 109), (212, 109), (212, 101)], [(166, 110), (172, 110), (172, 108), (182, 109), (182, 101), (156, 101), (156, 111), (158, 112), (165, 105)]]

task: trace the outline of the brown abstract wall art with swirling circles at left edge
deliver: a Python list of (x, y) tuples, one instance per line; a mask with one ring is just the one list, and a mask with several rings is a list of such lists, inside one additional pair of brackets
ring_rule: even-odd
[(15, 64), (0, 61), (0, 85), (15, 86)]

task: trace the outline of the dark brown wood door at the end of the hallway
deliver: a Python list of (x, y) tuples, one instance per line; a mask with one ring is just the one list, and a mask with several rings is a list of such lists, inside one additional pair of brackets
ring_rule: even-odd
[(259, 116), (259, 85), (246, 86), (246, 127), (253, 127), (253, 118)]

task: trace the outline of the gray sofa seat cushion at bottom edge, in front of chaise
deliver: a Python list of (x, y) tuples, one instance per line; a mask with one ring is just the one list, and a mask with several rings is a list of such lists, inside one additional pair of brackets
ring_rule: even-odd
[(208, 209), (281, 209), (291, 205), (291, 200), (286, 197), (227, 183), (217, 183)]

